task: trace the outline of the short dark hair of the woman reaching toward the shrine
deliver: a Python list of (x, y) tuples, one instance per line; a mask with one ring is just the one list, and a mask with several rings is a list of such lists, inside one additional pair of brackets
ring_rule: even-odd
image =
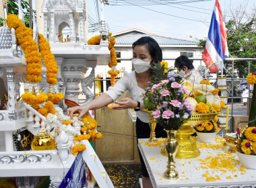
[(150, 52), (150, 56), (152, 57), (152, 61), (161, 62), (162, 61), (162, 50), (159, 44), (151, 38), (150, 36), (143, 36), (139, 38), (137, 41), (133, 42), (133, 50), (135, 46), (146, 46), (148, 52)]

